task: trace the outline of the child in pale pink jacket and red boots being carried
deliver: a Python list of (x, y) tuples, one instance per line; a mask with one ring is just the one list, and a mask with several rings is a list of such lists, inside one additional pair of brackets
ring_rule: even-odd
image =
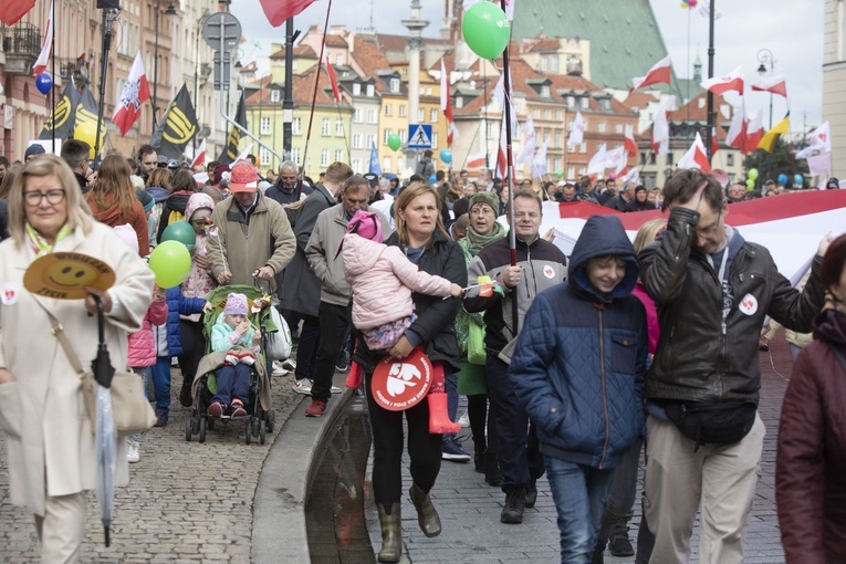
[[(373, 211), (355, 212), (335, 257), (342, 248), (344, 274), (353, 290), (353, 326), (370, 351), (391, 348), (415, 321), (411, 292), (458, 297), (463, 291), (445, 278), (418, 270), (399, 247), (384, 244), (382, 221)], [(461, 426), (447, 416), (443, 375), (438, 374), (427, 398), (429, 432), (458, 432)]]

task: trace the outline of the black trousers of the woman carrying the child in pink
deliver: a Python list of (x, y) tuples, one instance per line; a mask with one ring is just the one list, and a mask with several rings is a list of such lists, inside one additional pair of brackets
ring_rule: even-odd
[(365, 375), (373, 429), (373, 492), (377, 505), (390, 508), (403, 497), (403, 415), (408, 422), (411, 479), (425, 492), (432, 489), (440, 472), (441, 436), (429, 434), (426, 398), (405, 411), (388, 411), (373, 399), (372, 376)]

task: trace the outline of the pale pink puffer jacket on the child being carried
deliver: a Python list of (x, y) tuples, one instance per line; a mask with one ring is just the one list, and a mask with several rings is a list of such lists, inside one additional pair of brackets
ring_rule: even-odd
[(399, 247), (344, 236), (344, 274), (353, 289), (353, 325), (358, 330), (378, 327), (411, 315), (411, 291), (450, 295), (450, 281), (420, 272)]

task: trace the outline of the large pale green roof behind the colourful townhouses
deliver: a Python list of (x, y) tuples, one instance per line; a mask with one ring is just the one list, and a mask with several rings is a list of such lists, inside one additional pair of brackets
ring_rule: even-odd
[[(515, 40), (540, 33), (589, 40), (591, 82), (603, 88), (628, 90), (633, 77), (667, 56), (649, 0), (520, 0), (514, 9)], [(680, 95), (675, 72), (672, 85)]]

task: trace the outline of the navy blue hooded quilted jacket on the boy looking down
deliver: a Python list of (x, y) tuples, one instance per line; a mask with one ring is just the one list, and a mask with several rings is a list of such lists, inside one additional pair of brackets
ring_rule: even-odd
[[(585, 265), (610, 254), (626, 261), (626, 274), (602, 294)], [(567, 280), (529, 309), (509, 380), (544, 455), (609, 469), (644, 435), (648, 338), (646, 312), (631, 295), (638, 273), (619, 219), (594, 216), (573, 249)]]

